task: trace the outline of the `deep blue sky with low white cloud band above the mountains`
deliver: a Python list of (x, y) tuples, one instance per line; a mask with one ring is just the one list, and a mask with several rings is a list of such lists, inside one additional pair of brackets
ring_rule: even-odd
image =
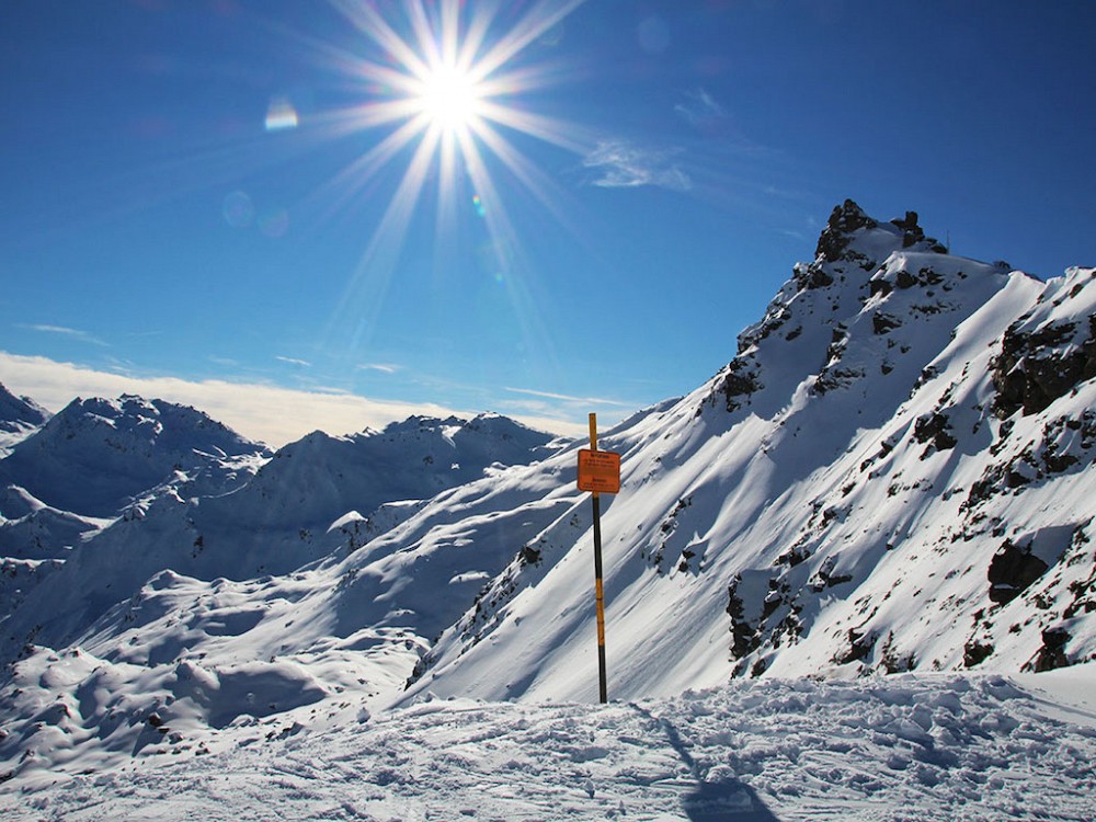
[(406, 82), (416, 7), (3, 3), (0, 381), (271, 442), (420, 409), (578, 432), (718, 370), (845, 197), (1096, 264), (1091, 2), (467, 3), (492, 70), (450, 119)]

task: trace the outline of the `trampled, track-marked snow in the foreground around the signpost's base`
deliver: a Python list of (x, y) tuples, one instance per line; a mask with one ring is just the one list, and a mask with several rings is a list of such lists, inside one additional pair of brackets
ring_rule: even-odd
[[(425, 700), (32, 789), (9, 820), (1092, 820), (1092, 666), (763, 680), (607, 706)], [(1072, 703), (1072, 705), (1071, 705)], [(43, 775), (44, 777), (44, 775)], [(18, 780), (16, 780), (18, 781)]]

